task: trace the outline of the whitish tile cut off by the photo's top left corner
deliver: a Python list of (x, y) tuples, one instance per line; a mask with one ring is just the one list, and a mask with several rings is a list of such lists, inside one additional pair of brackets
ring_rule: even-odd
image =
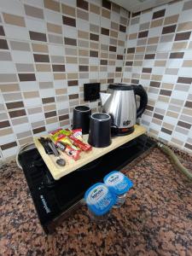
[(0, 8), (3, 12), (13, 15), (24, 15), (23, 4), (19, 0), (0, 0)]

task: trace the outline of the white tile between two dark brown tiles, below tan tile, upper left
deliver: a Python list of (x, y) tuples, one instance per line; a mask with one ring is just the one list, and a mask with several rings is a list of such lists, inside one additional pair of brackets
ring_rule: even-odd
[(9, 39), (29, 40), (29, 33), (26, 27), (4, 25), (4, 31)]

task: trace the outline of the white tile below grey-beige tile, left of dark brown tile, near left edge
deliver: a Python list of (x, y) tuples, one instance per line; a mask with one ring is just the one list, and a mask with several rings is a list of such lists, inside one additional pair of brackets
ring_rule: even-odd
[(25, 53), (23, 53), (23, 51), (20, 51), (20, 50), (12, 50), (11, 55), (15, 63), (33, 63), (34, 62), (32, 52), (29, 52), (29, 51), (27, 52), (25, 51)]

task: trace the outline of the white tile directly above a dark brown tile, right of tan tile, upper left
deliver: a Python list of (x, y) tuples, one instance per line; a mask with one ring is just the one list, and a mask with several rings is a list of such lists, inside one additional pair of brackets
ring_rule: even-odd
[(26, 18), (26, 27), (29, 31), (46, 33), (46, 22), (44, 20)]

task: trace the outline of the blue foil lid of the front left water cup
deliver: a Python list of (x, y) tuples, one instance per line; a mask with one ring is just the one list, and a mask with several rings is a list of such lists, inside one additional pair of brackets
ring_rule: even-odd
[(96, 183), (88, 189), (84, 200), (90, 211), (98, 216), (108, 212), (115, 202), (114, 195), (104, 183)]

